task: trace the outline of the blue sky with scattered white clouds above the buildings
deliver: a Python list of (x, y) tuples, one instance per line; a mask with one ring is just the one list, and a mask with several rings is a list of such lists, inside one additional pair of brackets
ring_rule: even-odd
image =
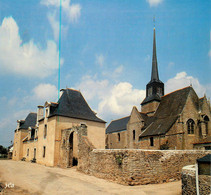
[[(60, 0), (0, 0), (0, 145), (17, 120), (58, 101)], [(80, 90), (107, 121), (140, 109), (155, 17), (165, 93), (211, 97), (210, 0), (62, 0), (60, 89)]]

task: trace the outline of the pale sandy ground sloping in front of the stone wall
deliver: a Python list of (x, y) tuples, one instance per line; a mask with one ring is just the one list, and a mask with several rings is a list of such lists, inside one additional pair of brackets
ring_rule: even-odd
[(75, 168), (51, 168), (11, 160), (0, 160), (0, 182), (14, 184), (14, 188), (6, 189), (7, 194), (181, 194), (180, 181), (167, 184), (123, 186), (85, 175), (76, 171)]

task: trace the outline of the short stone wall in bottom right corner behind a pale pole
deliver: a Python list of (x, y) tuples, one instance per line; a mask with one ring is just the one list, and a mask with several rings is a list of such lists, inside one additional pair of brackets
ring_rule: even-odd
[[(199, 175), (199, 194), (209, 195), (211, 176)], [(182, 169), (182, 194), (183, 195), (196, 195), (196, 168), (195, 165), (185, 166)]]

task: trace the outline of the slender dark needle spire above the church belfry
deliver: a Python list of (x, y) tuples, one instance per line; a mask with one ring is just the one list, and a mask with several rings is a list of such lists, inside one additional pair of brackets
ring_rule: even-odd
[(154, 27), (151, 82), (159, 81), (157, 64), (158, 63), (157, 63), (155, 27)]

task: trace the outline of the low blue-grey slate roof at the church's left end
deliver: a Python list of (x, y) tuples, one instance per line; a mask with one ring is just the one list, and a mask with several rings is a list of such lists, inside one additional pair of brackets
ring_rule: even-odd
[(106, 128), (106, 134), (126, 130), (129, 120), (130, 116), (111, 121), (111, 123)]

